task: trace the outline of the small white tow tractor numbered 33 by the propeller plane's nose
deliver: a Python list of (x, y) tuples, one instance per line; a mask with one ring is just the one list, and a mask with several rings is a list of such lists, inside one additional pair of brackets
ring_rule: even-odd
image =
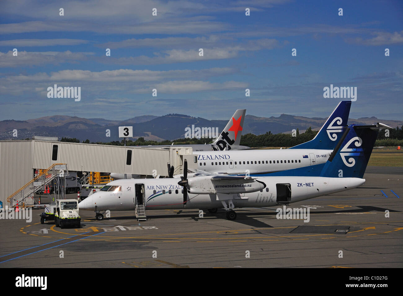
[(81, 217), (79, 216), (77, 199), (56, 199), (53, 204), (45, 206), (45, 212), (40, 214), (41, 224), (47, 220), (54, 220), (56, 227), (73, 226), (81, 227)]

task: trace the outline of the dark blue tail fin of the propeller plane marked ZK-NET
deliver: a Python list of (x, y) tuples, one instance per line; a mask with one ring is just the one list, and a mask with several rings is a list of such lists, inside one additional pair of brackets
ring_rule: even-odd
[(320, 176), (362, 178), (377, 136), (376, 126), (349, 125), (343, 134), (345, 139), (339, 141)]

